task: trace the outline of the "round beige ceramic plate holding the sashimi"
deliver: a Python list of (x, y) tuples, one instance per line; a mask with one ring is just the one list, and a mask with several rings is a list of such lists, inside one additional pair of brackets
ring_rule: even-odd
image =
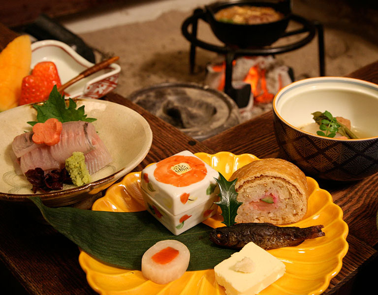
[[(63, 190), (37, 193), (51, 207), (67, 206), (95, 195), (134, 169), (147, 155), (152, 144), (150, 125), (137, 112), (117, 103), (96, 99), (74, 99), (84, 105), (88, 118), (109, 149), (113, 161), (91, 176), (92, 182), (80, 187), (64, 185)], [(11, 143), (19, 134), (31, 130), (28, 121), (36, 119), (33, 105), (24, 105), (0, 113), (0, 200), (25, 202), (32, 194), (32, 185), (19, 170)]]

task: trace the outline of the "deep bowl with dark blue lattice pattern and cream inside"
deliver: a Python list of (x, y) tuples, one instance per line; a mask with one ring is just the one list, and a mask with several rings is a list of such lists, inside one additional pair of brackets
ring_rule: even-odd
[[(358, 139), (337, 139), (302, 130), (312, 113), (351, 121)], [(344, 77), (294, 82), (273, 100), (274, 129), (284, 156), (307, 175), (353, 181), (378, 172), (378, 85)]]

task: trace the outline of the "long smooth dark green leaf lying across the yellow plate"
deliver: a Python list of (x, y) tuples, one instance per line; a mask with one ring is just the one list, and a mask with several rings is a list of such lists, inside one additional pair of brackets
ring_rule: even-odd
[(235, 252), (212, 243), (209, 239), (212, 228), (203, 223), (174, 236), (147, 211), (50, 208), (44, 206), (37, 196), (30, 199), (58, 232), (88, 254), (114, 266), (140, 270), (144, 252), (164, 239), (176, 239), (188, 247), (189, 271), (214, 268)]

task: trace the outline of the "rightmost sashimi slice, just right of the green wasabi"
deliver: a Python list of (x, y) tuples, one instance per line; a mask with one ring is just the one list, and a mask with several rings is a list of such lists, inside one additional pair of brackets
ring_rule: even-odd
[(92, 138), (94, 150), (85, 155), (85, 163), (89, 174), (93, 174), (112, 161), (112, 156), (97, 134)]

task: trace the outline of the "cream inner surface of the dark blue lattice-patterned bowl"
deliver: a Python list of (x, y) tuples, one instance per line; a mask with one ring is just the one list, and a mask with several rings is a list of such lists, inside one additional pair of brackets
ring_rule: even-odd
[(296, 128), (314, 122), (311, 113), (327, 110), (350, 119), (367, 137), (378, 136), (378, 85), (370, 82), (344, 77), (301, 80), (277, 94), (275, 109)]

